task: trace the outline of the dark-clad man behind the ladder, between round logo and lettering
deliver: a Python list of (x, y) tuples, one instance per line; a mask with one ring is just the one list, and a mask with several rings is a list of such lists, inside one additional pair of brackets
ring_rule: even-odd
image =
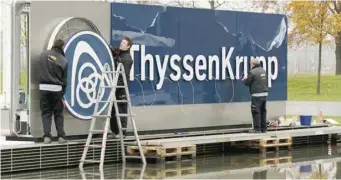
[[(112, 54), (114, 56), (114, 61), (115, 61), (115, 66), (116, 68), (120, 63), (123, 64), (124, 71), (125, 71), (125, 76), (127, 81), (129, 82), (129, 74), (131, 67), (133, 65), (133, 60), (130, 56), (130, 48), (132, 46), (132, 40), (129, 37), (124, 37), (121, 45), (119, 48), (111, 48)], [(127, 83), (128, 83), (127, 82)], [(119, 76), (118, 78), (118, 85), (124, 85), (123, 84), (123, 77)], [(124, 88), (117, 88), (116, 89), (116, 99), (117, 100), (126, 100), (127, 96), (125, 93)], [(120, 114), (127, 114), (128, 112), (128, 104), (126, 102), (121, 102), (117, 103), (118, 105), (118, 110)], [(118, 124), (116, 121), (116, 116), (115, 116), (115, 107), (113, 106), (112, 108), (112, 113), (111, 113), (111, 119), (110, 119), (110, 129), (113, 133), (113, 136), (115, 138), (119, 138), (119, 129), (118, 129)], [(127, 117), (120, 117), (121, 119), (121, 125), (122, 128), (127, 128)], [(123, 135), (126, 135), (126, 131), (123, 131)]]

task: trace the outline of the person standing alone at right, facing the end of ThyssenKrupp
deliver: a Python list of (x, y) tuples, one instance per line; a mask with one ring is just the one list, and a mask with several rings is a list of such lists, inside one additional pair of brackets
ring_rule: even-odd
[(251, 112), (253, 118), (253, 129), (250, 133), (266, 133), (266, 101), (268, 96), (267, 73), (262, 68), (260, 61), (251, 59), (251, 70), (247, 77), (243, 78), (245, 85), (249, 86), (252, 96)]

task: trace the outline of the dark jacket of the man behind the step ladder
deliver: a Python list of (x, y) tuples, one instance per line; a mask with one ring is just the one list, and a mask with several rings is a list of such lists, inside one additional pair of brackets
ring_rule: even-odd
[[(131, 70), (131, 67), (133, 65), (133, 59), (130, 56), (129, 50), (122, 51), (122, 50), (118, 50), (116, 48), (115, 50), (113, 50), (113, 55), (114, 55), (114, 59), (115, 59), (116, 68), (118, 67), (119, 63), (123, 64), (124, 72), (125, 72), (125, 75), (127, 78), (127, 82), (129, 82), (130, 70)], [(122, 76), (120, 76), (118, 78), (118, 84), (123, 85), (123, 77)]]

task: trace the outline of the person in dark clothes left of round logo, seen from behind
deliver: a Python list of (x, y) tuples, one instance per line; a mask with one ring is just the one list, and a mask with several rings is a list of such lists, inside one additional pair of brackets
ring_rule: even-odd
[(39, 60), (40, 109), (43, 120), (44, 143), (51, 143), (52, 115), (58, 133), (58, 141), (66, 143), (64, 132), (63, 96), (67, 84), (67, 61), (63, 51), (64, 41), (56, 40), (52, 49), (41, 53)]

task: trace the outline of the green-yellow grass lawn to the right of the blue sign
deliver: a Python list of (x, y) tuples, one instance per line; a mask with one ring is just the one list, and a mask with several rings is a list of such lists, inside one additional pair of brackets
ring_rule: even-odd
[(289, 101), (341, 101), (341, 76), (321, 75), (321, 93), (316, 94), (317, 75), (288, 75)]

